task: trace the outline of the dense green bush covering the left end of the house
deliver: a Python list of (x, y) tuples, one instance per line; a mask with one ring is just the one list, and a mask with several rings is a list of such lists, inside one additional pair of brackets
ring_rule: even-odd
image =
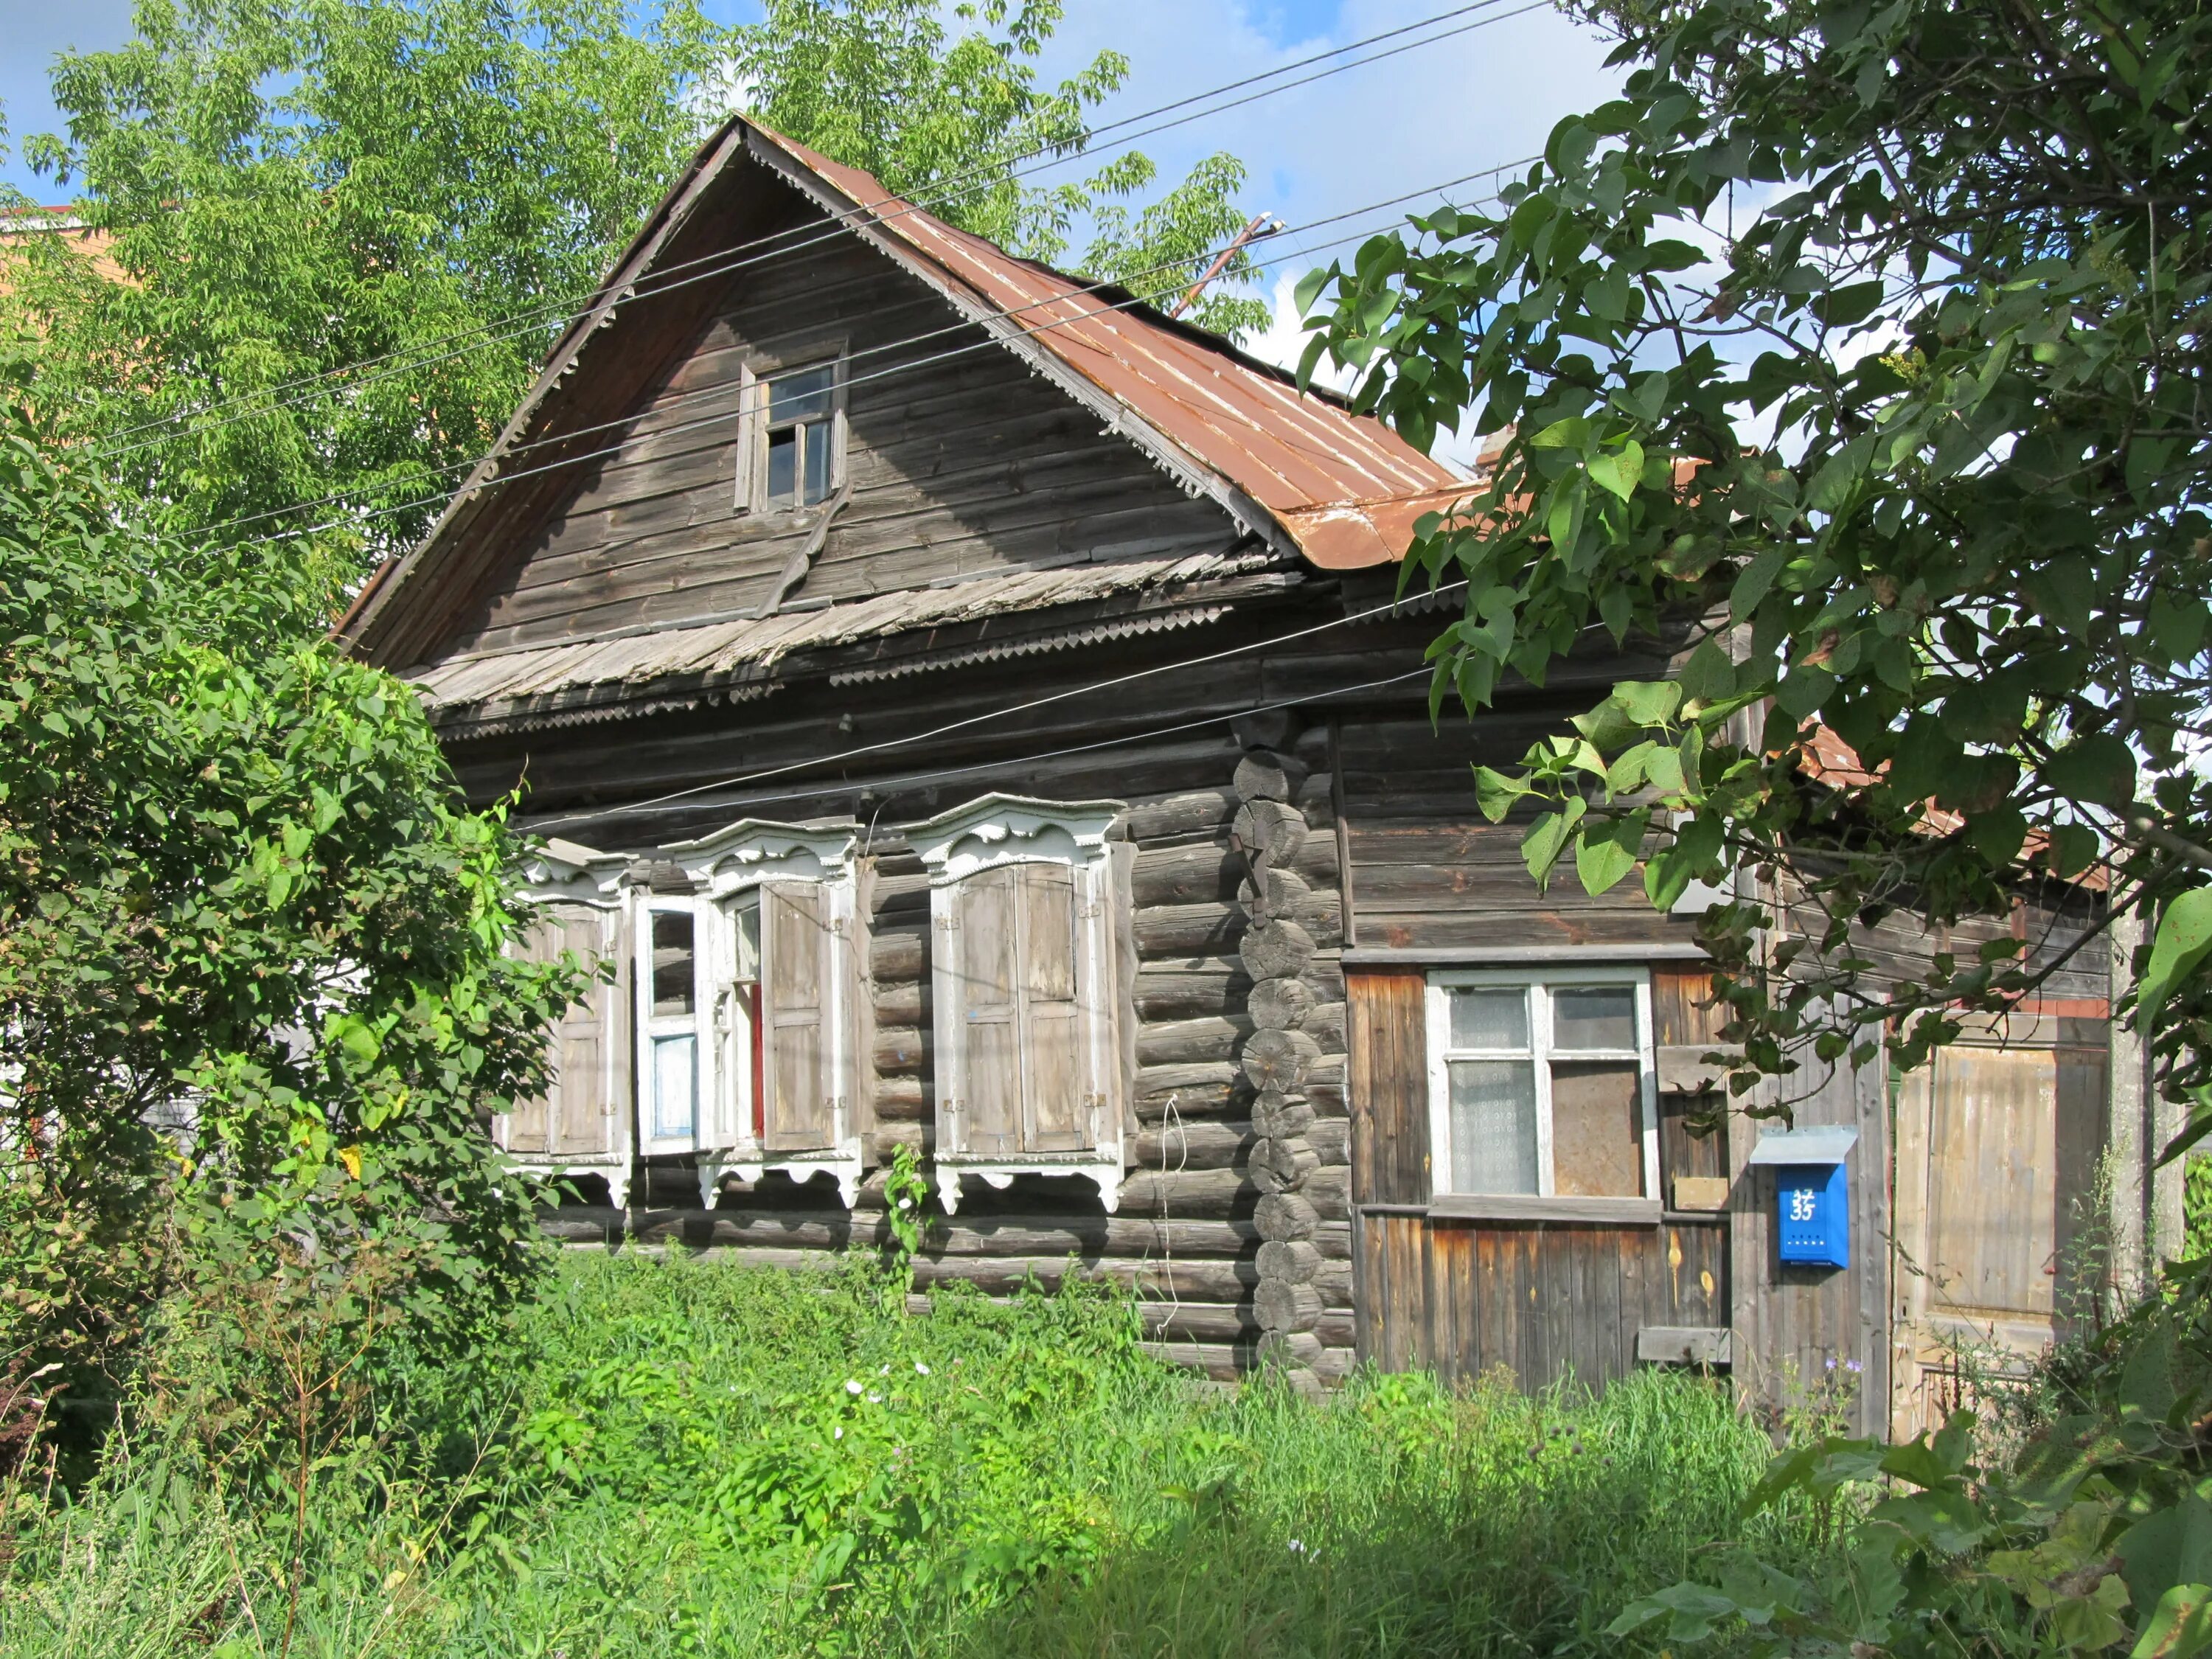
[(179, 1276), (467, 1347), (533, 1261), (480, 1119), (575, 973), (504, 960), (405, 688), (55, 453), (0, 407), (0, 1354), (100, 1394)]

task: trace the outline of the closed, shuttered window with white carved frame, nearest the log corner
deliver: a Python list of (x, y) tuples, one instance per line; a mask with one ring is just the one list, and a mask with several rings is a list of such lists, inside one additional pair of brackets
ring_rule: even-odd
[(989, 794), (907, 832), (929, 869), (947, 1210), (962, 1175), (1082, 1175), (1119, 1201), (1119, 814)]

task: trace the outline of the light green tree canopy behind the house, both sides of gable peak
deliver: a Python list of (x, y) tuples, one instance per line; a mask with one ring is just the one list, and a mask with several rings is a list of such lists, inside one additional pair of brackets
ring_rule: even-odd
[[(1126, 62), (1040, 88), (1055, 0), (958, 18), (931, 0), (774, 0), (743, 29), (692, 0), (641, 18), (624, 0), (139, 0), (128, 44), (62, 58), (66, 135), (24, 144), (100, 241), (0, 250), (0, 334), (35, 343), (58, 436), (164, 526), (223, 526), (239, 580), (305, 580), (327, 608), (427, 526), (726, 104), (1035, 257), (1088, 221), (1086, 268), (1148, 296), (1234, 234), (1230, 157), (1135, 210), (1141, 155), (1024, 181), (1084, 148)], [(1217, 290), (1199, 321), (1265, 307)]]

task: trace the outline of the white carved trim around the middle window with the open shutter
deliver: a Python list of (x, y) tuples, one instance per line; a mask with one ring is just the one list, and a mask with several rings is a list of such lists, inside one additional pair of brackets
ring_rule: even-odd
[[(852, 825), (796, 825), (743, 818), (699, 841), (666, 849), (692, 880), (692, 905), (703, 940), (701, 1044), (712, 1053), (712, 1144), (701, 1141), (699, 1194), (714, 1203), (723, 1175), (759, 1181), (781, 1170), (794, 1181), (830, 1175), (849, 1210), (860, 1192), (863, 1121), (858, 1075), (858, 1002), (865, 995), (860, 967), (860, 841)], [(754, 1124), (752, 1053), (757, 1033), (752, 1006), (739, 995), (741, 911), (757, 909), (761, 891), (776, 883), (812, 883), (823, 898), (821, 1031), (827, 1048), (832, 1124), (825, 1150), (783, 1152), (763, 1146)], [(770, 978), (768, 929), (761, 929), (761, 984)], [(763, 1002), (763, 1013), (765, 1013)]]

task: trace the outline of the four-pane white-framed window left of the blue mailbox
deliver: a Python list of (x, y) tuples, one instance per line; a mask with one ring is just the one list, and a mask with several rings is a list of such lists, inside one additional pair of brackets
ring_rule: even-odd
[(1431, 1190), (1655, 1199), (1650, 1033), (1641, 969), (1431, 973)]

